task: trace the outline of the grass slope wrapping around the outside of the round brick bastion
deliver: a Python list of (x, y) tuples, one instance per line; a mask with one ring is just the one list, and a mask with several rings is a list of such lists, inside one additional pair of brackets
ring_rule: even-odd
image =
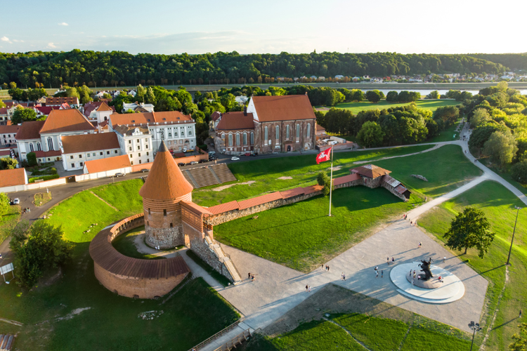
[[(185, 351), (239, 318), (201, 278), (166, 303), (117, 296), (98, 282), (89, 241), (103, 227), (142, 211), (141, 185), (141, 180), (127, 180), (95, 187), (51, 209), (48, 222), (61, 225), (65, 238), (75, 244), (63, 275), (54, 282), (42, 279), (31, 291), (0, 284), (1, 317), (24, 323), (3, 323), (0, 333), (18, 333), (18, 350)], [(119, 249), (133, 253), (126, 237), (117, 246), (123, 243)], [(143, 320), (140, 314), (148, 311), (156, 317)]]

